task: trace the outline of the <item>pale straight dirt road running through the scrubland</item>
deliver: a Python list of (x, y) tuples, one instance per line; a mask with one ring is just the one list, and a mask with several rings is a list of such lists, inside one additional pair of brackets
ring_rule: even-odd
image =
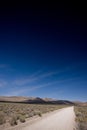
[(21, 130), (75, 130), (74, 107), (64, 108), (47, 117), (42, 117), (41, 120)]

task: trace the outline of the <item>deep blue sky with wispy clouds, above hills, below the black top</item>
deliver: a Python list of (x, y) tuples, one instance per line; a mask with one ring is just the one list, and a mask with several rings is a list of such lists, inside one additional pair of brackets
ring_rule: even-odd
[(46, 14), (0, 17), (0, 95), (87, 101), (85, 29), (79, 17)]

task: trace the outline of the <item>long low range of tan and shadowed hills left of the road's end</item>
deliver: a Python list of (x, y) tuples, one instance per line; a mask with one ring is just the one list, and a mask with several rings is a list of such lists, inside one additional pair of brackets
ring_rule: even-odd
[(0, 96), (0, 102), (13, 102), (13, 103), (36, 103), (36, 104), (74, 104), (68, 100), (55, 100), (52, 98), (39, 98), (39, 97), (22, 97), (22, 96)]

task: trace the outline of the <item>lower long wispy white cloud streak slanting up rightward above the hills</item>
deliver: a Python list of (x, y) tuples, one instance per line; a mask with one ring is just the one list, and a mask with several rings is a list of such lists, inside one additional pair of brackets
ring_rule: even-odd
[[(77, 78), (78, 79), (78, 78)], [(13, 87), (12, 89), (10, 89), (10, 92), (7, 92), (6, 94), (4, 94), (5, 96), (24, 96), (29, 94), (30, 92), (34, 92), (37, 91), (39, 89), (45, 88), (48, 89), (47, 87), (56, 87), (57, 90), (54, 90), (53, 94), (61, 94), (63, 92), (63, 88), (61, 87), (62, 83), (69, 83), (76, 80), (76, 78), (68, 78), (68, 79), (61, 79), (61, 80), (56, 80), (56, 81), (51, 81), (51, 82), (47, 82), (44, 84), (37, 84), (35, 86), (33, 85), (28, 85), (28, 86), (22, 86), (22, 87)]]

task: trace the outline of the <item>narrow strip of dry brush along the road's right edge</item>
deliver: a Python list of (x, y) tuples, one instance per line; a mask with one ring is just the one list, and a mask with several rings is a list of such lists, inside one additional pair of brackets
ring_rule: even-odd
[(79, 130), (87, 130), (87, 106), (76, 106), (75, 114)]

